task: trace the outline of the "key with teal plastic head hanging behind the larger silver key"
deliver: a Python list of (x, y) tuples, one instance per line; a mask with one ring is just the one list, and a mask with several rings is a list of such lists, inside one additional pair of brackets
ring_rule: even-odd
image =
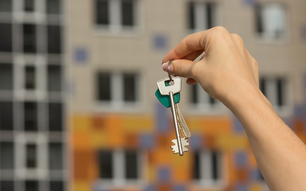
[[(165, 85), (169, 86), (169, 83), (166, 82)], [(171, 106), (170, 97), (168, 95), (161, 95), (159, 89), (155, 91), (155, 96), (160, 101), (160, 103), (162, 103), (165, 107)], [(178, 102), (180, 99), (180, 93), (174, 94), (174, 98), (175, 98), (175, 109), (176, 109), (176, 114), (177, 114), (176, 117), (177, 117), (178, 127), (181, 133), (184, 135), (184, 137), (189, 138), (191, 137), (191, 133), (189, 131), (189, 128), (187, 127), (187, 124), (178, 106)]]

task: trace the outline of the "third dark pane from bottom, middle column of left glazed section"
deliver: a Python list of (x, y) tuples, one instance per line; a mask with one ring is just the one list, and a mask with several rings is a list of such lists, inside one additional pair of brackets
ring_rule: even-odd
[(24, 103), (24, 130), (37, 130), (37, 104), (34, 102)]

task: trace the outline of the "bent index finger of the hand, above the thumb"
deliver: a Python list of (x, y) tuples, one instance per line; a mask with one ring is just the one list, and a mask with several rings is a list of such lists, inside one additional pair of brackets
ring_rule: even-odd
[(202, 42), (205, 42), (206, 33), (206, 31), (201, 31), (185, 37), (164, 57), (162, 63), (171, 59), (183, 59), (194, 52), (198, 53), (199, 50), (205, 51), (205, 43)]

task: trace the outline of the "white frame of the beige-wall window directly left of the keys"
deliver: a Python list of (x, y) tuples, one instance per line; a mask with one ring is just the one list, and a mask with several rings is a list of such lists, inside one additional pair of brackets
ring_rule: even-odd
[(142, 93), (144, 85), (142, 77), (137, 72), (135, 76), (135, 96), (136, 100), (132, 102), (124, 101), (123, 76), (129, 72), (108, 72), (110, 74), (110, 101), (102, 101), (96, 98), (96, 111), (115, 111), (115, 112), (138, 112), (141, 108)]

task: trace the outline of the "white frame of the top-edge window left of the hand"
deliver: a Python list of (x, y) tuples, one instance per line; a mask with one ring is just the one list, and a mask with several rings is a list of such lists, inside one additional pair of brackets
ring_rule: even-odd
[[(93, 0), (94, 4), (97, 0)], [(94, 16), (95, 33), (98, 35), (119, 35), (128, 37), (138, 34), (141, 30), (143, 18), (142, 13), (142, 1), (133, 0), (133, 26), (123, 26), (121, 24), (121, 0), (108, 0), (109, 2), (109, 24), (96, 23), (96, 16)], [(95, 10), (96, 11), (96, 10)]]

